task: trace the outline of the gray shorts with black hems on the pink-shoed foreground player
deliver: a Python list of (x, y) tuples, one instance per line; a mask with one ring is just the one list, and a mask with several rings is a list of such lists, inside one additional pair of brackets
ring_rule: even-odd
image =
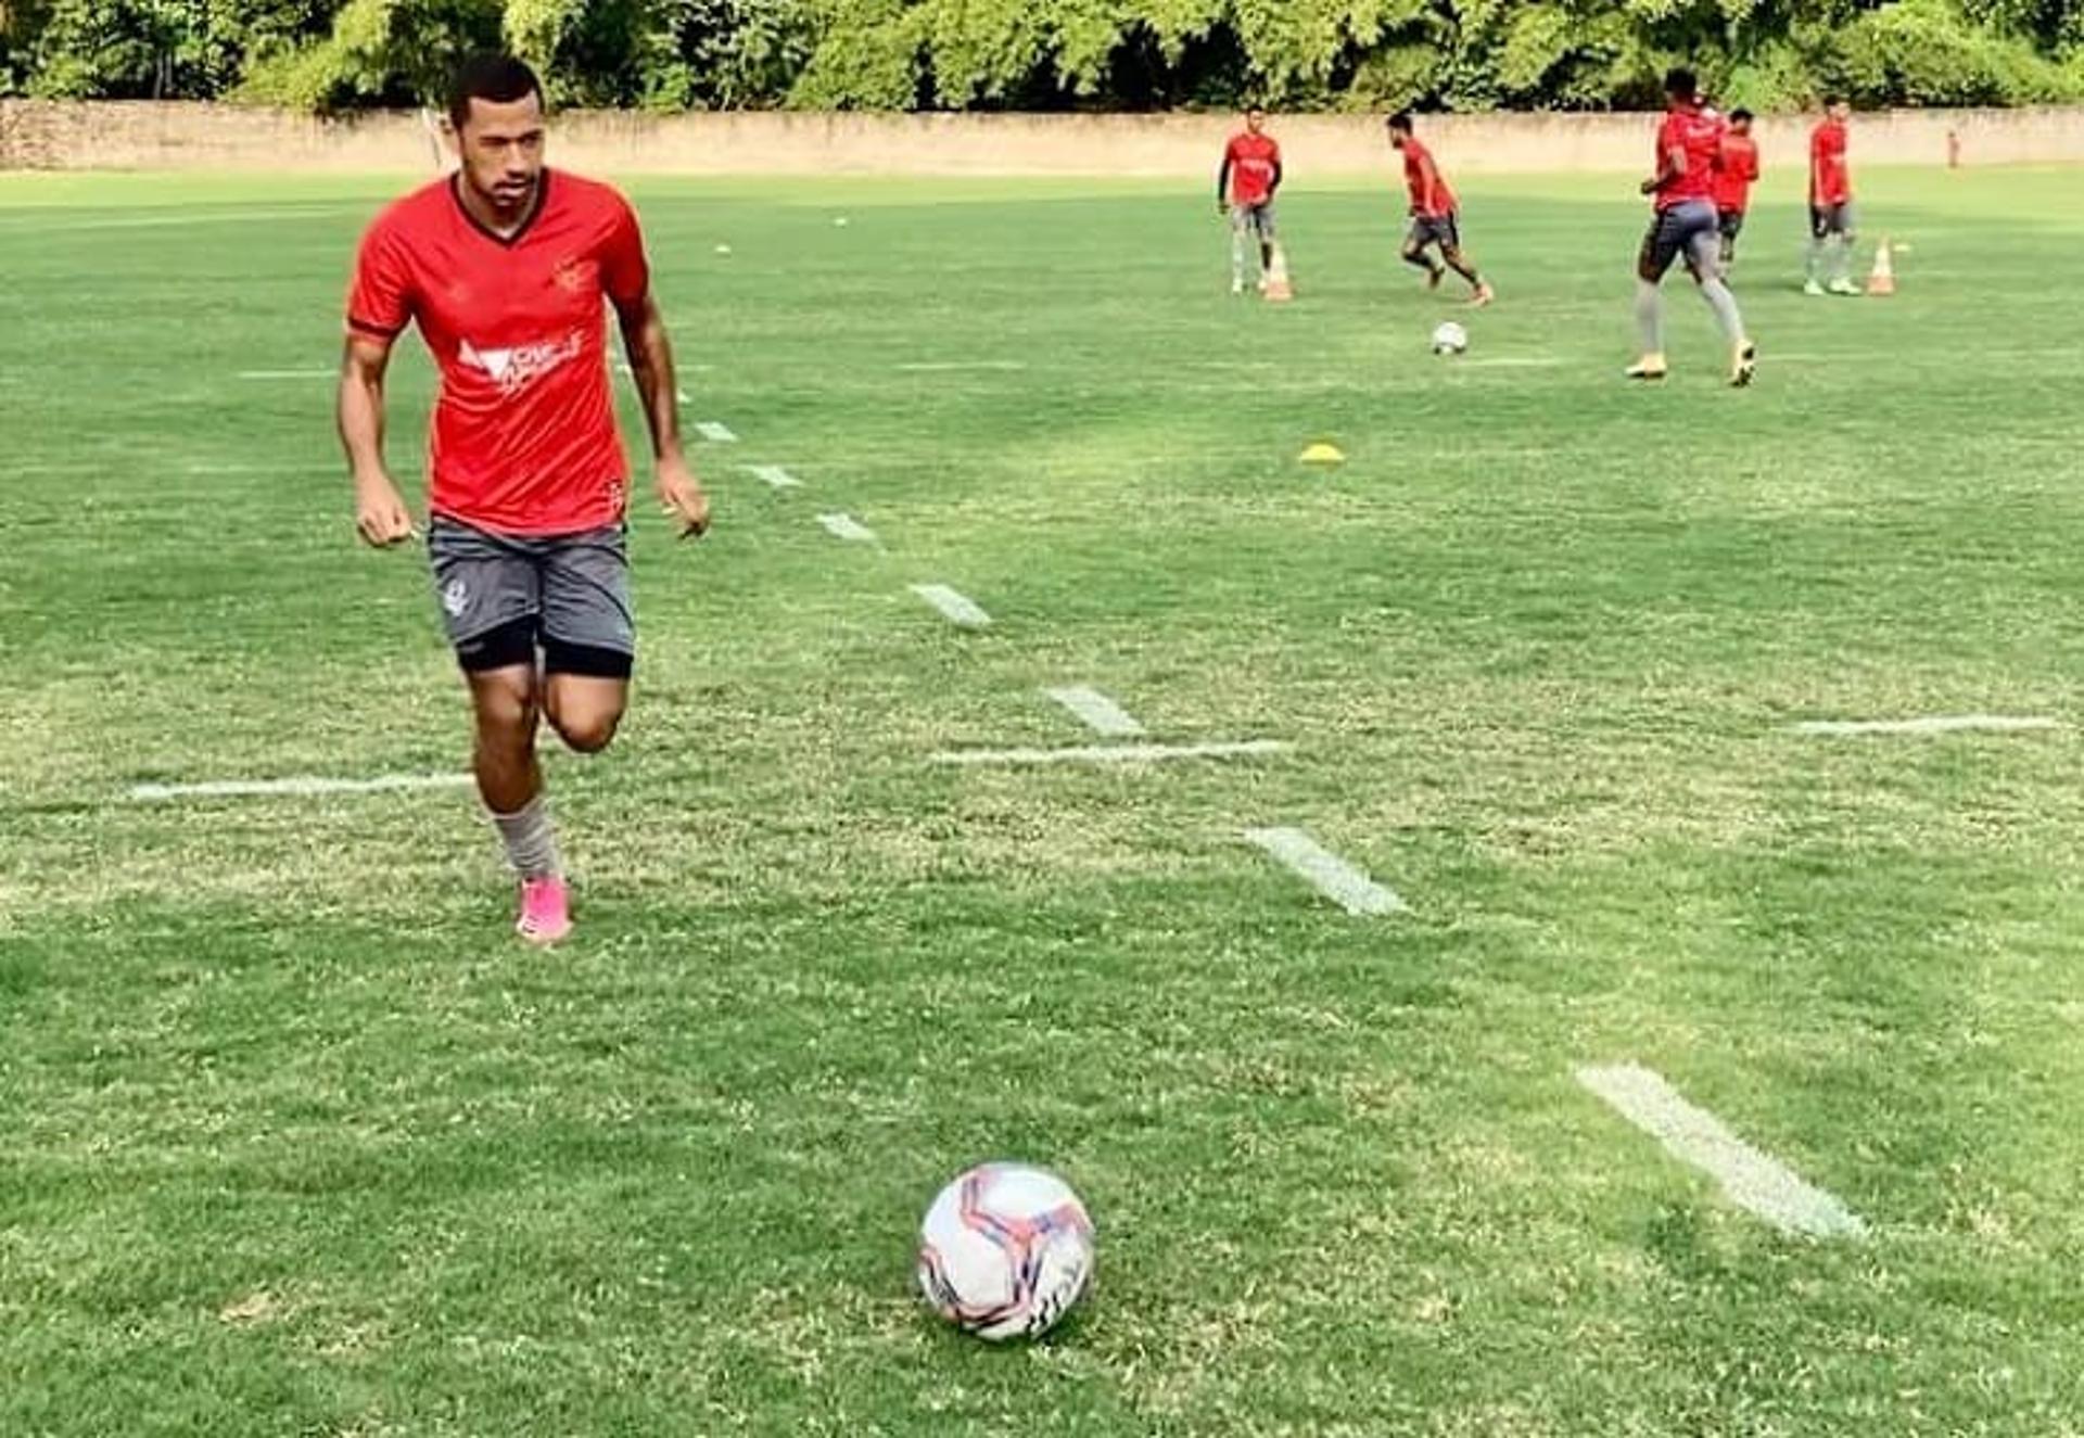
[(636, 615), (621, 525), (519, 536), (436, 515), (427, 559), (465, 669), (534, 663), (542, 648), (548, 673), (629, 675)]

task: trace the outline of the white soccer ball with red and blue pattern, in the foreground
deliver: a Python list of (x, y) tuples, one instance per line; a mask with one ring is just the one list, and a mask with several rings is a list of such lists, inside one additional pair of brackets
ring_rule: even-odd
[(1092, 1284), (1092, 1219), (1071, 1186), (1025, 1163), (982, 1163), (919, 1225), (919, 1290), (957, 1328), (1038, 1338)]

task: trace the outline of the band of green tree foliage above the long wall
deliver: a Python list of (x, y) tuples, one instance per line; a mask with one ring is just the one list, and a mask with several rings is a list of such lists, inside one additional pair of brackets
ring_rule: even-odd
[(2084, 0), (0, 0), (0, 94), (413, 104), (494, 44), (661, 110), (2084, 98)]

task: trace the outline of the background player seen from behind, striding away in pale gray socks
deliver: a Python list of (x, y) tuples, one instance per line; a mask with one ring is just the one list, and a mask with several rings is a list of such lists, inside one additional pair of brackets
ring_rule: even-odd
[(1715, 156), (1721, 154), (1723, 119), (1701, 104), (1701, 83), (1690, 69), (1665, 75), (1665, 121), (1657, 127), (1657, 173), (1642, 181), (1657, 213), (1636, 256), (1636, 327), (1642, 358), (1630, 365), (1630, 379), (1663, 379), (1665, 365), (1665, 273), (1686, 256), (1701, 298), (1715, 311), (1730, 342), (1730, 383), (1748, 386), (1759, 367), (1759, 348), (1744, 333), (1736, 296), (1721, 281), (1721, 233), (1715, 217)]

